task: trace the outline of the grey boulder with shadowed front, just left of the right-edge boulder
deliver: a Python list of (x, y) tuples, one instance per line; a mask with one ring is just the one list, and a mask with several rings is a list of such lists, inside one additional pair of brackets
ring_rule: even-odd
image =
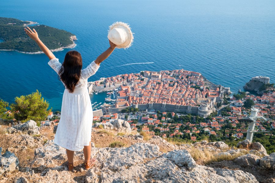
[(246, 154), (244, 156), (240, 156), (234, 159), (234, 162), (237, 165), (242, 167), (251, 167), (251, 166), (258, 166), (260, 163), (261, 157), (256, 156), (254, 154)]

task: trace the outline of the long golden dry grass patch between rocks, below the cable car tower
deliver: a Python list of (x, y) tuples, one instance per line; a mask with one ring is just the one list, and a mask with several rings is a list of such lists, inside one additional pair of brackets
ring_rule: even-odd
[(247, 154), (248, 152), (240, 152), (235, 155), (217, 155), (214, 151), (209, 151), (204, 149), (204, 151), (200, 151), (196, 148), (189, 149), (189, 153), (193, 157), (195, 161), (202, 162), (204, 164), (210, 164), (212, 162), (219, 162), (219, 161), (231, 161), (239, 156)]

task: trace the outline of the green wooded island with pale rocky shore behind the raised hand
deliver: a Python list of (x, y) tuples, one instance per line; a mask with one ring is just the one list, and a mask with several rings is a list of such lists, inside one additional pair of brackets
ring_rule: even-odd
[(68, 31), (38, 25), (37, 22), (22, 21), (14, 18), (0, 17), (0, 50), (18, 51), (27, 54), (38, 54), (41, 52), (39, 46), (24, 31), (28, 25), (35, 29), (41, 41), (53, 52), (64, 48), (74, 48), (76, 36)]

